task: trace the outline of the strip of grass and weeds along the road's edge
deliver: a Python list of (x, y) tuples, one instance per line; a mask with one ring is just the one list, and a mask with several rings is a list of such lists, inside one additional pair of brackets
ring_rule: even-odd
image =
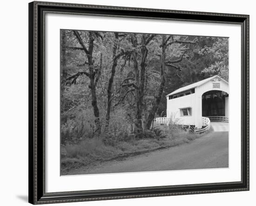
[[(210, 129), (207, 133), (211, 132)], [(61, 175), (68, 171), (100, 161), (108, 161), (154, 151), (161, 148), (175, 147), (183, 143), (189, 143), (196, 138), (205, 135), (185, 132), (177, 127), (170, 129), (160, 126), (155, 130), (156, 138), (131, 138), (127, 141), (116, 141), (115, 145), (106, 144), (104, 139), (92, 138), (78, 144), (61, 145)]]

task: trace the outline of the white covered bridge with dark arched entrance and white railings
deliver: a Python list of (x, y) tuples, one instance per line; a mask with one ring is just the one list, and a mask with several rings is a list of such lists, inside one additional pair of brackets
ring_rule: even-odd
[(166, 96), (167, 116), (159, 123), (188, 126), (197, 132), (211, 122), (229, 122), (229, 83), (219, 76), (189, 84)]

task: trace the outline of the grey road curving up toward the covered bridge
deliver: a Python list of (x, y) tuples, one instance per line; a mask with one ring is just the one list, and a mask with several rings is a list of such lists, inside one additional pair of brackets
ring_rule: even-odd
[(68, 174), (104, 174), (229, 167), (228, 132), (211, 132), (188, 144), (157, 150), (121, 161), (107, 161)]

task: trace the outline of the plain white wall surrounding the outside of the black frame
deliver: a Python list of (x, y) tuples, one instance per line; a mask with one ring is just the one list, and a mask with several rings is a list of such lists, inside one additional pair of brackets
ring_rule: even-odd
[[(58, 0), (55, 0), (58, 1)], [(28, 127), (28, 84), (27, 84), (27, 0), (1, 2), (1, 74), (0, 74), (0, 188), (1, 205), (20, 206), (27, 203), (27, 127)], [(61, 2), (71, 2), (71, 0)], [(105, 200), (82, 203), (69, 203), (65, 205), (88, 206), (119, 206), (119, 205), (196, 205), (216, 206), (242, 204), (253, 205), (256, 195), (256, 180), (253, 176), (255, 159), (255, 141), (253, 141), (253, 113), (255, 95), (252, 91), (256, 84), (253, 83), (253, 51), (256, 49), (253, 39), (253, 30), (256, 16), (253, 13), (256, 6), (249, 0), (183, 0), (183, 1), (118, 1), (118, 0), (75, 0), (73, 3), (87, 3), (115, 6), (152, 7), (176, 10), (190, 10), (220, 13), (242, 13), (250, 15), (250, 191), (233, 193), (198, 194), (173, 197), (157, 197), (129, 200)], [(232, 128), (231, 128), (232, 129)], [(61, 204), (60, 204), (61, 205)], [(63, 204), (62, 204), (63, 205)]]

